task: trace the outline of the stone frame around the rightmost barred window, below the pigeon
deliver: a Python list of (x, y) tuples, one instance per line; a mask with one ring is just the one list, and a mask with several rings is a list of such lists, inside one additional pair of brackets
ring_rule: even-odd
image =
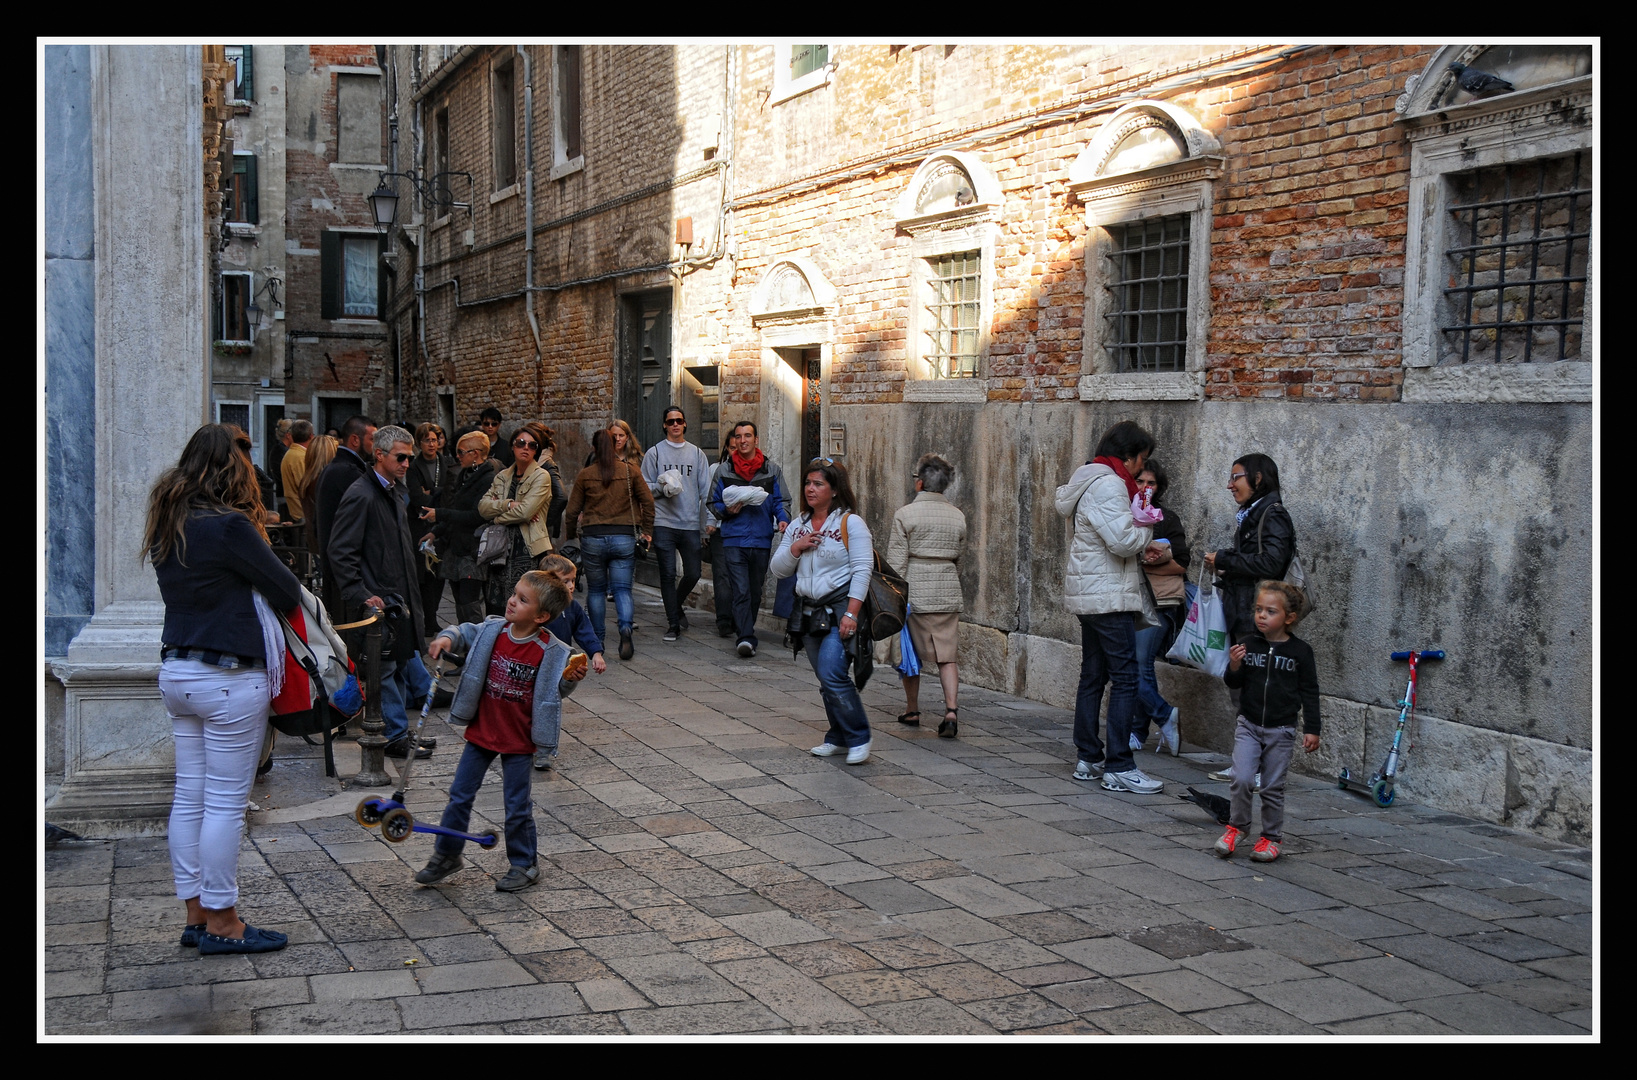
[[(1596, 154), (1591, 75), (1442, 105), (1450, 64), (1472, 64), (1485, 44), (1452, 44), (1405, 83), (1395, 111), (1409, 141), (1409, 221), (1405, 245), (1403, 401), (1591, 401), (1596, 288), (1596, 190), (1586, 250), (1581, 360), (1437, 363), (1439, 309), (1449, 242), (1450, 178), (1573, 152)], [(1596, 175), (1596, 173), (1593, 173)], [(1596, 183), (1593, 180), (1593, 183)]]

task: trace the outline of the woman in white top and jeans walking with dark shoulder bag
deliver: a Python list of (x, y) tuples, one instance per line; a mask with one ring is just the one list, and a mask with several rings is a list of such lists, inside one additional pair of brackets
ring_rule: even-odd
[(802, 479), (804, 514), (784, 530), (768, 573), (796, 574), (800, 643), (807, 663), (818, 676), (830, 730), (812, 748), (817, 758), (846, 754), (846, 764), (869, 761), (869, 715), (848, 674), (858, 650), (871, 648), (869, 635), (858, 633), (859, 610), (869, 594), (874, 542), (864, 519), (853, 512), (853, 486), (846, 466), (830, 458), (807, 463)]

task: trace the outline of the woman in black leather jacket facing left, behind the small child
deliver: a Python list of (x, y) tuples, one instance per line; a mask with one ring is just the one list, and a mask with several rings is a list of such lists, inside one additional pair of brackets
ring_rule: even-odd
[(1228, 491), (1239, 504), (1239, 527), (1231, 548), (1206, 553), (1205, 569), (1216, 574), (1228, 637), (1239, 641), (1256, 633), (1256, 583), (1290, 569), (1297, 527), (1278, 496), (1278, 466), (1265, 453), (1236, 458)]

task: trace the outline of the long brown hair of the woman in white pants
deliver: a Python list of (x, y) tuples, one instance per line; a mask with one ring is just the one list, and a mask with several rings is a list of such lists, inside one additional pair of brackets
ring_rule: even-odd
[(185, 563), (183, 527), (198, 511), (244, 514), (255, 532), (267, 540), (262, 525), (262, 488), (250, 465), (250, 440), (232, 424), (206, 424), (188, 439), (175, 468), (154, 481), (147, 494), (147, 527), (142, 530), (142, 555), (159, 566), (172, 551)]

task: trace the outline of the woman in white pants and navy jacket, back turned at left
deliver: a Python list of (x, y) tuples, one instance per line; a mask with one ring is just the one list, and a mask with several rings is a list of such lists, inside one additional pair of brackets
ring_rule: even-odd
[[(177, 745), (170, 869), (183, 947), (270, 952), (285, 934), (239, 918), (239, 835), (283, 637), (273, 610), (301, 586), (267, 545), (244, 432), (206, 424), (154, 484), (144, 553), (165, 601), (159, 692)], [(268, 658), (273, 669), (268, 671)]]

